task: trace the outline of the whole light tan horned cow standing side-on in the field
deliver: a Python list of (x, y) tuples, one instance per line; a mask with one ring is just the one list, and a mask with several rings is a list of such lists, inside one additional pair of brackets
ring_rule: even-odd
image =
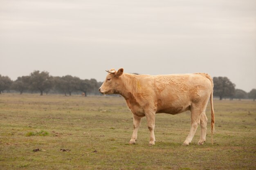
[(108, 75), (99, 88), (102, 94), (120, 94), (133, 115), (133, 133), (130, 144), (135, 144), (141, 118), (146, 116), (150, 131), (149, 145), (155, 144), (155, 114), (176, 115), (191, 111), (191, 129), (182, 145), (191, 143), (198, 125), (201, 126), (198, 145), (206, 139), (205, 109), (211, 103), (211, 143), (213, 144), (214, 110), (213, 79), (207, 73), (135, 75), (124, 73), (124, 68), (106, 70)]

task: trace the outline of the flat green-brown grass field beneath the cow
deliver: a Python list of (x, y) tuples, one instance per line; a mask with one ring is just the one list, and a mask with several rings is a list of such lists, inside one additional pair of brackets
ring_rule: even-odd
[[(189, 146), (190, 113), (157, 114), (155, 146), (146, 118), (138, 140), (122, 97), (0, 95), (0, 170), (255, 170), (256, 102), (214, 100), (216, 132)], [(39, 149), (39, 150), (36, 150)], [(33, 151), (34, 150), (34, 151)]]

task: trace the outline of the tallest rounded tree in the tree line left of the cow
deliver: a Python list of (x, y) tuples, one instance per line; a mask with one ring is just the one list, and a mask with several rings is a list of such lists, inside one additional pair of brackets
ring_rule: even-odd
[(43, 95), (43, 92), (52, 88), (53, 86), (53, 77), (49, 75), (47, 71), (34, 71), (30, 74), (30, 84), (32, 90), (40, 91), (40, 95)]

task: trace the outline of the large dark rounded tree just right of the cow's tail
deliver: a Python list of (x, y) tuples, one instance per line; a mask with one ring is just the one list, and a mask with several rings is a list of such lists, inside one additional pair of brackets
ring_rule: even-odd
[(219, 96), (220, 100), (222, 100), (223, 97), (234, 97), (236, 85), (227, 77), (213, 77), (213, 84), (213, 95)]

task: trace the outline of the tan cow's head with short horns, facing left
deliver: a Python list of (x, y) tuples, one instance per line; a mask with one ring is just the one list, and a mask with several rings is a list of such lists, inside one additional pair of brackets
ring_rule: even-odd
[(110, 71), (106, 70), (106, 72), (108, 72), (108, 75), (99, 88), (99, 92), (108, 95), (119, 94), (121, 88), (120, 76), (123, 75), (124, 68), (120, 68), (118, 71), (112, 68)]

